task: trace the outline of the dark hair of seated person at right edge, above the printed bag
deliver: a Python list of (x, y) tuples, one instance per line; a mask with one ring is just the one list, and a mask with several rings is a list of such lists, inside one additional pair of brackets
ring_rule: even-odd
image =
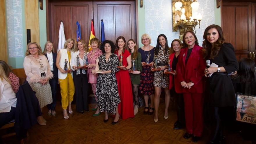
[(239, 70), (232, 79), (240, 78), (241, 83), (252, 82), (256, 80), (255, 63), (250, 58), (242, 58), (239, 60)]

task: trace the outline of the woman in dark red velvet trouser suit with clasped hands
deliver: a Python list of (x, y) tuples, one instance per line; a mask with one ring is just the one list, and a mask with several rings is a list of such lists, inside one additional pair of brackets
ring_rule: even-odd
[(177, 81), (175, 86), (177, 93), (183, 93), (186, 119), (186, 133), (184, 138), (191, 136), (193, 142), (197, 142), (203, 131), (203, 92), (205, 60), (198, 45), (198, 40), (193, 31), (186, 31), (183, 35), (183, 49), (177, 64)]

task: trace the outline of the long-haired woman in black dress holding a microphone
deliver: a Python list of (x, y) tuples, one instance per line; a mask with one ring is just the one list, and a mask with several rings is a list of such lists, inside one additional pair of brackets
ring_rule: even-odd
[(224, 138), (223, 122), (227, 118), (227, 113), (232, 113), (236, 104), (234, 87), (228, 74), (238, 70), (238, 63), (234, 47), (230, 43), (225, 43), (220, 26), (214, 24), (208, 26), (203, 39), (203, 57), (211, 61), (211, 66), (205, 68), (205, 76), (208, 77), (206, 96), (209, 96), (209, 103), (214, 107), (217, 121), (210, 143), (219, 143)]

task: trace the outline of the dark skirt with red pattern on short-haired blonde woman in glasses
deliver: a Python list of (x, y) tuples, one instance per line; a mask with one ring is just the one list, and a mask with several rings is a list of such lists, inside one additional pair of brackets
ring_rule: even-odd
[(141, 81), (139, 85), (139, 92), (142, 95), (154, 94), (154, 72), (150, 70), (150, 66), (142, 67)]

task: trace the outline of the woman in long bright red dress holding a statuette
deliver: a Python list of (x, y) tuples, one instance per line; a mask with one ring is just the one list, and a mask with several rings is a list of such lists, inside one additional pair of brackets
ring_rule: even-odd
[(128, 72), (131, 68), (131, 54), (125, 49), (125, 43), (123, 36), (119, 36), (115, 41), (115, 54), (118, 55), (120, 63), (125, 66), (115, 73), (121, 100), (118, 104), (118, 112), (123, 120), (134, 117), (131, 78)]

